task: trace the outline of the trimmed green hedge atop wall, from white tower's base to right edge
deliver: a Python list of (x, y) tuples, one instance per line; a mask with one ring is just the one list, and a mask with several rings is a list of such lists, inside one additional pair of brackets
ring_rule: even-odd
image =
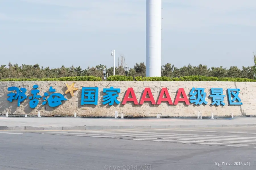
[(230, 81), (230, 82), (256, 82), (249, 78), (231, 78), (231, 77), (207, 77), (207, 76), (184, 76), (184, 77), (135, 77), (136, 81)]

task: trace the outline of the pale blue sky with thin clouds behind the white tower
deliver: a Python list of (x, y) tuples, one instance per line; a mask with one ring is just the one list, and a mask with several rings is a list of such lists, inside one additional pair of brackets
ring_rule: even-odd
[[(162, 64), (253, 65), (255, 0), (162, 7)], [(111, 67), (115, 49), (133, 67), (146, 61), (145, 42), (146, 0), (0, 0), (0, 65)]]

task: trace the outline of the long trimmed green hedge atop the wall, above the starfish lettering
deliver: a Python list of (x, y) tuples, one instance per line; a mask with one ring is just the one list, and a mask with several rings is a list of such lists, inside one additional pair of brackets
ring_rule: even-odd
[(75, 76), (60, 78), (5, 78), (0, 81), (102, 81), (102, 79), (95, 76)]

